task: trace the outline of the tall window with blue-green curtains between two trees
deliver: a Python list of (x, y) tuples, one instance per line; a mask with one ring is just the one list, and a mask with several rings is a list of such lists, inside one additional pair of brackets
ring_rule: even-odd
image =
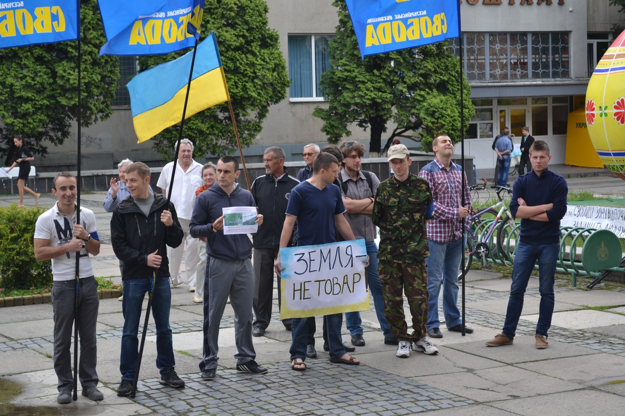
[[(291, 101), (322, 101), (321, 74), (330, 68), (329, 41), (334, 35), (289, 35)], [(294, 100), (295, 99), (295, 100)]]

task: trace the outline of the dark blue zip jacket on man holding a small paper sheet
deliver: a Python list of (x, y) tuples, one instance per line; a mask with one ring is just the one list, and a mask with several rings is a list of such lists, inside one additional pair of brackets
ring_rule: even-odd
[(196, 197), (189, 234), (206, 237), (206, 252), (223, 260), (244, 260), (252, 257), (252, 242), (247, 234), (228, 234), (223, 230), (212, 232), (212, 222), (223, 215), (224, 207), (256, 207), (252, 194), (237, 184), (230, 195), (215, 184)]

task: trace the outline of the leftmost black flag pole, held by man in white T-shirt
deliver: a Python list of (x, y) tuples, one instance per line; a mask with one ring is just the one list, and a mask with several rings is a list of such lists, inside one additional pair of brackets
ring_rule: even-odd
[[(81, 189), (81, 121), (82, 121), (82, 95), (83, 86), (81, 80), (81, 36), (80, 36), (80, 1), (78, 3), (78, 12), (76, 13), (76, 20), (78, 27), (78, 129), (76, 134), (78, 135), (78, 144), (76, 145), (76, 153), (78, 154), (77, 166), (76, 166), (76, 224), (80, 224), (80, 189)], [(78, 238), (78, 237), (76, 237)], [(85, 247), (86, 250), (86, 247)], [(74, 392), (72, 400), (74, 402), (78, 400), (78, 299), (80, 294), (80, 251), (76, 252), (76, 295), (74, 297)]]

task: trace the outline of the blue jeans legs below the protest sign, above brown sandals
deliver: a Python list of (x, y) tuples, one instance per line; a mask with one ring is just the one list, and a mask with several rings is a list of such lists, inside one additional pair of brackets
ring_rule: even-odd
[[(343, 314), (324, 316), (327, 325), (327, 343), (330, 347), (330, 358), (339, 358), (345, 354), (341, 326)], [(306, 360), (306, 345), (308, 344), (308, 318), (293, 318), (291, 327), (291, 360), (299, 358)]]

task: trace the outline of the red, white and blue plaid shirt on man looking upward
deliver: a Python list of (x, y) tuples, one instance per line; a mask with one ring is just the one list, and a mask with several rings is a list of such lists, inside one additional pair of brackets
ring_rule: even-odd
[[(421, 169), (419, 176), (427, 179), (434, 197), (434, 216), (427, 222), (427, 238), (437, 243), (456, 241), (462, 238), (461, 224), (465, 222), (467, 230), (469, 222), (459, 217), (458, 207), (461, 200), (462, 168), (451, 162), (449, 171), (434, 157)], [(466, 175), (464, 183), (467, 183)], [(471, 193), (469, 186), (464, 187), (464, 206), (471, 212)]]

